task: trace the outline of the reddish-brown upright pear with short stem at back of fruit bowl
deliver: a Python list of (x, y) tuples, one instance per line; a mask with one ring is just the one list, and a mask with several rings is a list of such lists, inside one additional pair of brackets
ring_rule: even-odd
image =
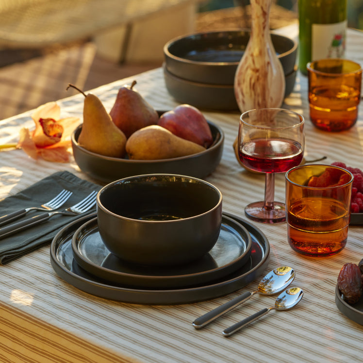
[(156, 125), (159, 115), (156, 110), (133, 89), (123, 86), (118, 90), (110, 115), (115, 125), (129, 138), (133, 132), (149, 125)]

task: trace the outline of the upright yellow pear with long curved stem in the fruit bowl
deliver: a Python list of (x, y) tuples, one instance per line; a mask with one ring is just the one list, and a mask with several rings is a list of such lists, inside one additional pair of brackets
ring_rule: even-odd
[(85, 97), (78, 144), (100, 155), (122, 158), (125, 155), (126, 136), (113, 123), (100, 99), (92, 93), (86, 95), (72, 84), (68, 87), (76, 88)]

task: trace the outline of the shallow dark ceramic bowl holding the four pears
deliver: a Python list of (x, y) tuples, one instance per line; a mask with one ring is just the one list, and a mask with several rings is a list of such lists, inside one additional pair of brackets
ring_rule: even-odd
[(84, 173), (102, 183), (134, 175), (154, 173), (180, 174), (203, 179), (211, 174), (219, 164), (224, 143), (222, 129), (210, 121), (208, 124), (214, 140), (212, 146), (198, 154), (163, 160), (111, 158), (88, 151), (78, 144), (78, 136), (82, 130), (82, 125), (80, 125), (71, 137), (73, 156)]

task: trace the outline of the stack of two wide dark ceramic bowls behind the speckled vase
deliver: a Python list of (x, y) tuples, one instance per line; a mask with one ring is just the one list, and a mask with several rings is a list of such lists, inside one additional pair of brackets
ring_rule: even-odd
[[(170, 40), (164, 46), (164, 77), (178, 102), (201, 109), (238, 110), (233, 83), (246, 49), (249, 30), (197, 33)], [(297, 42), (271, 33), (285, 74), (285, 97), (295, 85)]]

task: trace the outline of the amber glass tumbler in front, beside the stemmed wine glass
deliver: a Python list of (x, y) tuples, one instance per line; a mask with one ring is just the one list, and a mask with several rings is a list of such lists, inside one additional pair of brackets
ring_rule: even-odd
[(307, 256), (340, 252), (347, 244), (353, 175), (338, 166), (302, 165), (285, 180), (290, 246)]

